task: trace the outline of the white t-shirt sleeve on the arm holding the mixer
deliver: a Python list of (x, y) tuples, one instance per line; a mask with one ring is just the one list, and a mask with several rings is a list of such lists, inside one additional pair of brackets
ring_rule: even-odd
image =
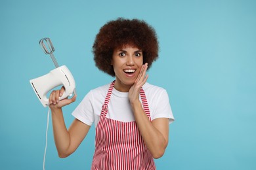
[(94, 122), (93, 112), (93, 95), (89, 92), (72, 112), (72, 115), (84, 124), (91, 126)]

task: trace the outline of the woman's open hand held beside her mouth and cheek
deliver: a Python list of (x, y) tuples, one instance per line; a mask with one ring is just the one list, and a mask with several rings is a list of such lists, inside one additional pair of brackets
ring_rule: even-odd
[(137, 76), (137, 79), (135, 80), (135, 83), (133, 86), (131, 86), (129, 90), (129, 101), (133, 105), (136, 101), (139, 101), (139, 93), (140, 88), (146, 83), (146, 80), (148, 79), (148, 75), (146, 75), (146, 70), (148, 69), (148, 63), (145, 63), (142, 65), (140, 69), (140, 73)]

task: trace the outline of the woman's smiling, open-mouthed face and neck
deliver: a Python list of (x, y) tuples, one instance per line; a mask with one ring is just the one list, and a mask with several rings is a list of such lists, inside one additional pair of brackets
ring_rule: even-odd
[(129, 44), (114, 49), (112, 65), (116, 74), (115, 88), (129, 92), (143, 64), (142, 50)]

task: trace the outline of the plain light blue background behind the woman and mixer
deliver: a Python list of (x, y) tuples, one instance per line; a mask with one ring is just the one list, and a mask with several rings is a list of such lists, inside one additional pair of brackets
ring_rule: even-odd
[[(50, 37), (77, 83), (77, 101), (112, 77), (98, 71), (91, 46), (117, 17), (156, 28), (160, 58), (148, 82), (167, 90), (175, 122), (158, 169), (256, 169), (256, 1), (0, 2), (0, 169), (42, 169), (47, 109), (29, 80), (54, 69), (38, 41)], [(69, 158), (58, 158), (50, 122), (46, 169), (89, 169), (95, 130)]]

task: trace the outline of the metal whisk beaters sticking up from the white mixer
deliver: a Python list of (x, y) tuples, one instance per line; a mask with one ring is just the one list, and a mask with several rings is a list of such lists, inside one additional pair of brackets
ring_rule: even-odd
[[(54, 52), (54, 47), (53, 47), (53, 43), (51, 42), (51, 39), (49, 38), (43, 38), (39, 41), (39, 44), (43, 50), (43, 52), (45, 52), (45, 54), (49, 54), (51, 56), (51, 59), (53, 59), (53, 63), (55, 65), (55, 67), (59, 67), (58, 62), (56, 61), (56, 58), (53, 55)], [(47, 44), (47, 45), (45, 45)]]

